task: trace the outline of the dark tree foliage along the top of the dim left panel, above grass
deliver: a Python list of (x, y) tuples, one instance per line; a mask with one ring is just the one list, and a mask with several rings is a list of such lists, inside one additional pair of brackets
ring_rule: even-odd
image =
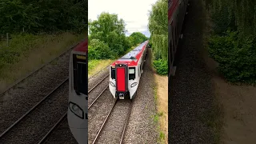
[(81, 33), (87, 27), (87, 1), (2, 0), (0, 32), (38, 34), (60, 30)]

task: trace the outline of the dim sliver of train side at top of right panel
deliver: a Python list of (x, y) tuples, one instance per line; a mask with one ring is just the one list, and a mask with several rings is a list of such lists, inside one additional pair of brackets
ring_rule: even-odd
[(182, 25), (187, 14), (189, 0), (168, 1), (168, 67), (169, 78), (174, 76), (176, 66), (174, 59), (177, 53), (178, 41), (182, 38)]

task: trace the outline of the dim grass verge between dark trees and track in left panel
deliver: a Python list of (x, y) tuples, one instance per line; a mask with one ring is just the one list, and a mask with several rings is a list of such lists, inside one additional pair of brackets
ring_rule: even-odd
[[(81, 41), (83, 34), (18, 34), (0, 49), (0, 92)], [(4, 43), (4, 42), (3, 42)]]

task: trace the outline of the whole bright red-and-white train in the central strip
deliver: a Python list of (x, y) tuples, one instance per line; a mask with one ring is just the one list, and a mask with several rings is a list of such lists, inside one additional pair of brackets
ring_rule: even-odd
[(109, 88), (114, 98), (125, 99), (129, 96), (133, 99), (137, 94), (148, 43), (149, 41), (142, 42), (110, 65)]

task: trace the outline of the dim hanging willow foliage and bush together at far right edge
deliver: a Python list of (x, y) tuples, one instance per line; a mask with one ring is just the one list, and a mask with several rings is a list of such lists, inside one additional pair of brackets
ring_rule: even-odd
[(230, 82), (256, 83), (256, 2), (205, 0), (214, 23), (210, 57)]

